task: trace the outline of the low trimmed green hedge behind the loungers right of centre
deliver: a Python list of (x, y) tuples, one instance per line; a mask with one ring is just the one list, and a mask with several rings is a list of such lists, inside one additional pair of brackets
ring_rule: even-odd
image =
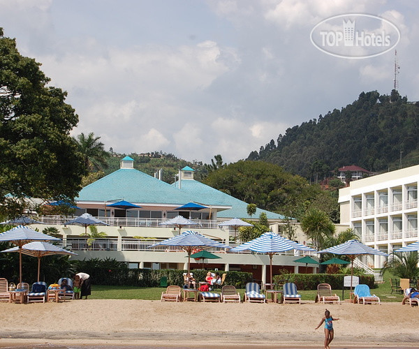
[[(317, 290), (319, 283), (329, 283), (333, 290), (341, 290), (344, 284), (344, 274), (281, 274), (273, 277), (274, 283), (295, 283), (297, 290)], [(360, 283), (365, 283), (369, 288), (376, 288), (373, 275), (360, 275)]]

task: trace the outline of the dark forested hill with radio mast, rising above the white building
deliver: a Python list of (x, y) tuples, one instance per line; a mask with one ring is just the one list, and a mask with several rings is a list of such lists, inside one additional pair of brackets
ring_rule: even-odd
[(391, 95), (371, 91), (341, 110), (288, 128), (248, 160), (263, 160), (307, 178), (328, 177), (344, 165), (374, 172), (419, 163), (419, 103), (395, 90)]

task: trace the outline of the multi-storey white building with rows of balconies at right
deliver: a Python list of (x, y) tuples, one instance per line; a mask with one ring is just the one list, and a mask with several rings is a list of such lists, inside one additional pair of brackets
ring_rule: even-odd
[[(418, 241), (419, 165), (351, 181), (339, 190), (341, 224), (362, 242), (386, 253)], [(385, 258), (367, 256), (370, 267)]]

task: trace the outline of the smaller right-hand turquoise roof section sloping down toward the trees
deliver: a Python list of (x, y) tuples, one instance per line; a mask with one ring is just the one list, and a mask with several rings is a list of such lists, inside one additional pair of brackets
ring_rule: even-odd
[[(172, 186), (178, 186), (177, 182)], [(214, 205), (212, 202), (219, 202), (221, 205), (231, 206), (231, 209), (219, 211), (217, 218), (251, 218), (247, 214), (247, 202), (233, 198), (233, 196), (223, 193), (217, 189), (207, 186), (193, 179), (182, 179), (181, 191), (193, 195), (196, 199), (195, 202), (200, 202), (203, 205)], [(252, 218), (258, 218), (259, 215), (265, 212), (268, 219), (284, 219), (281, 214), (266, 211), (265, 209), (256, 209), (256, 214)]]

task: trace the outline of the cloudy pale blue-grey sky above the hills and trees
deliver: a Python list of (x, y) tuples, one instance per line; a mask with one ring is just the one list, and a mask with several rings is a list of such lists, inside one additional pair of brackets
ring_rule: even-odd
[(419, 101), (419, 6), (384, 0), (0, 0), (0, 27), (42, 64), (105, 150), (187, 161), (247, 158), (358, 99), (390, 94), (395, 52), (345, 59), (311, 29), (364, 13), (400, 31), (399, 93)]

